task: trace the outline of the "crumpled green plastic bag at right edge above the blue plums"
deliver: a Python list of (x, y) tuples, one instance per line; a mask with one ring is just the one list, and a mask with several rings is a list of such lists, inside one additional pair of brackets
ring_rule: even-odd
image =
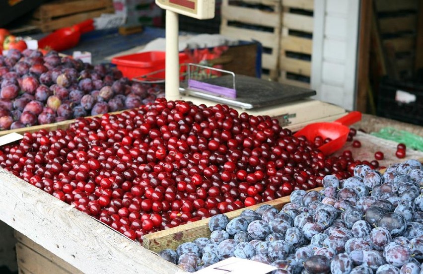
[(391, 127), (383, 128), (379, 132), (373, 132), (371, 135), (396, 141), (399, 143), (405, 143), (407, 148), (418, 149), (423, 151), (423, 137), (412, 134), (407, 131), (396, 130)]

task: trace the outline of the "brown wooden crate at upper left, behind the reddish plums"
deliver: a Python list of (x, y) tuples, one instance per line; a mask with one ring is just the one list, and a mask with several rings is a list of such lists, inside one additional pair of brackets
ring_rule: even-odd
[(102, 13), (113, 12), (112, 0), (56, 0), (37, 8), (32, 16), (32, 24), (43, 32), (50, 32), (98, 17)]

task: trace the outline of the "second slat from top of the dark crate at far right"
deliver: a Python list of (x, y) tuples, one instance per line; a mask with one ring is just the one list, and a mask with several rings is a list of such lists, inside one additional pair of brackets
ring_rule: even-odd
[(414, 32), (416, 31), (416, 25), (417, 16), (415, 14), (379, 19), (379, 27), (382, 34)]

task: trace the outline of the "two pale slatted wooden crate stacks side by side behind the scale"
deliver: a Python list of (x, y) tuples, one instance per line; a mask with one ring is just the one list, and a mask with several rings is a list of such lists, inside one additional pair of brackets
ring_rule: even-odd
[(310, 85), (314, 0), (223, 0), (220, 33), (263, 45), (263, 78)]

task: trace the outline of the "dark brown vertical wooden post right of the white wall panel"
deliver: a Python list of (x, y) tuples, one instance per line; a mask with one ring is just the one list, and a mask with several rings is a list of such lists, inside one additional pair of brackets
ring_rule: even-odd
[(367, 93), (369, 92), (370, 29), (372, 14), (372, 0), (362, 0), (358, 34), (357, 97), (355, 106), (356, 110), (363, 113), (367, 111)]

